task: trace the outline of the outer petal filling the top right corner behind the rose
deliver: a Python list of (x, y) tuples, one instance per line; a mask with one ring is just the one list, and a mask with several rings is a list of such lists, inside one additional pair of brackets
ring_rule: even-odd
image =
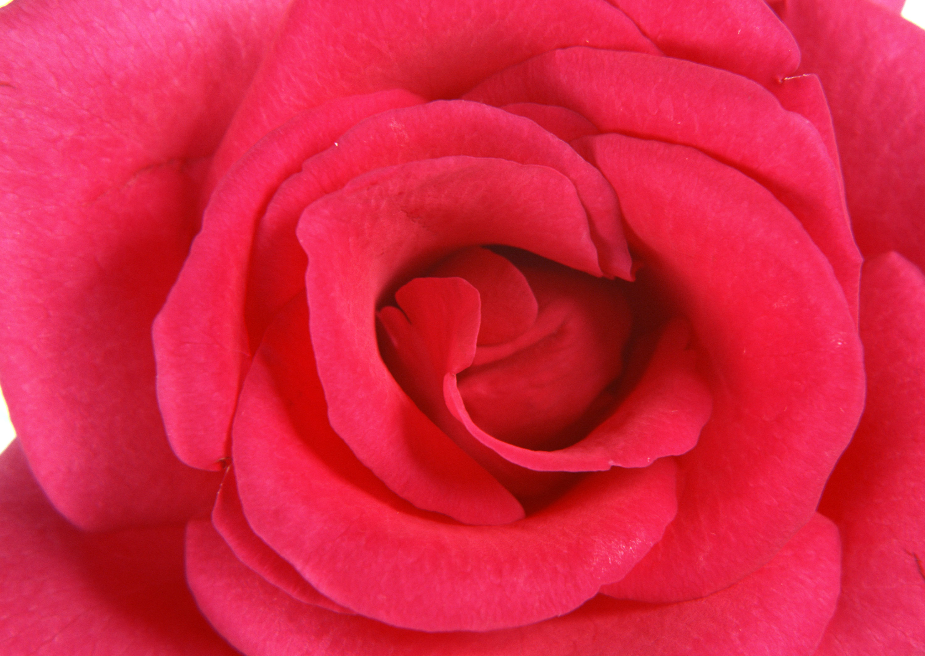
[(832, 106), (857, 245), (925, 268), (925, 31), (866, 0), (783, 5)]

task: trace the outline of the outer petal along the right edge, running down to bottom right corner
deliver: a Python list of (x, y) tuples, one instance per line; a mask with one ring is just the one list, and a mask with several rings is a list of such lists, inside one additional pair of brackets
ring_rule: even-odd
[(868, 397), (820, 504), (842, 531), (842, 596), (823, 654), (925, 652), (925, 276), (896, 253), (864, 264)]

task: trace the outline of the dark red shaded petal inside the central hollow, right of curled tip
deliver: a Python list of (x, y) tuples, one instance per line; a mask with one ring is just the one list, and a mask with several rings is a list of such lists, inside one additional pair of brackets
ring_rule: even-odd
[(632, 316), (621, 285), (549, 261), (518, 265), (539, 303), (536, 324), (507, 345), (479, 346), (456, 383), (483, 430), (558, 448), (579, 437), (568, 433), (623, 369)]

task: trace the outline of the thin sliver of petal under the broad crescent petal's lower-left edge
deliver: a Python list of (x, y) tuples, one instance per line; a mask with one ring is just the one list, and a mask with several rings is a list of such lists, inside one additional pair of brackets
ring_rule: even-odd
[(241, 510), (238, 484), (231, 468), (226, 472), (218, 491), (216, 507), (212, 511), (212, 524), (241, 563), (294, 599), (337, 613), (350, 613), (314, 589), (292, 565), (254, 535)]

